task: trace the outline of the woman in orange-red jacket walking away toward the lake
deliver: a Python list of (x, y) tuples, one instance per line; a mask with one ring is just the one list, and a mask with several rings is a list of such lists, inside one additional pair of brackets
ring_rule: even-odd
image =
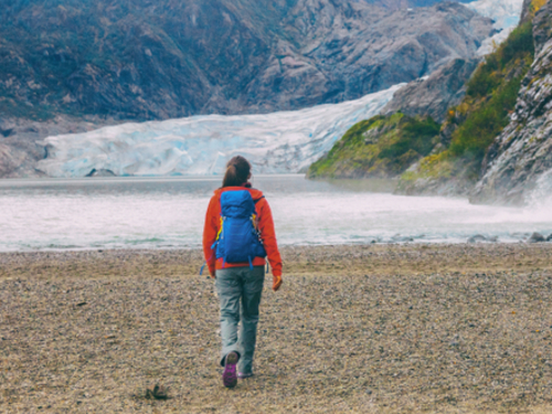
[(237, 378), (253, 375), (266, 256), (273, 290), (282, 285), (270, 208), (263, 193), (252, 189), (251, 177), (251, 164), (244, 157), (227, 162), (222, 187), (209, 203), (203, 230), (203, 253), (211, 277), (216, 278), (221, 306), (222, 380), (227, 388), (235, 386)]

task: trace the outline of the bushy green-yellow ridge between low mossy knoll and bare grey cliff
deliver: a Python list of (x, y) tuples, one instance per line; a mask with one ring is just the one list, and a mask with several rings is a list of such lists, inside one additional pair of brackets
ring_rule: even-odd
[[(481, 177), (490, 171), (492, 160), (501, 153), (499, 148), (503, 148), (497, 144), (500, 140), (497, 141), (497, 137), (511, 128), (509, 124), (519, 112), (517, 108), (523, 105), (519, 99), (531, 82), (534, 50), (541, 42), (538, 40), (541, 32), (533, 28), (532, 17), (542, 3), (542, 0), (526, 1), (529, 11), (524, 11), (522, 23), (477, 67), (466, 84), (461, 103), (448, 108), (439, 142), (401, 177), (399, 192), (469, 195)], [(528, 12), (530, 18), (526, 18)], [(550, 67), (543, 71), (550, 71)], [(518, 124), (516, 128), (520, 132), (526, 127)], [(507, 180), (511, 173), (511, 170), (505, 170), (496, 177), (497, 180), (499, 176), (499, 180)], [(481, 184), (477, 188), (482, 190)], [(523, 202), (513, 193), (500, 200), (484, 197), (481, 190), (477, 190), (481, 195), (474, 197), (474, 201), (506, 202), (510, 199), (509, 202)]]

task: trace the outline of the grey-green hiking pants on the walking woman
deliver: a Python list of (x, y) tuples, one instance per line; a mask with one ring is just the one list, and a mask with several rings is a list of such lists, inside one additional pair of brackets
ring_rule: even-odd
[[(238, 371), (252, 372), (264, 282), (264, 266), (216, 270), (215, 285), (221, 302), (221, 365), (224, 365), (224, 358), (234, 351), (240, 354)], [(238, 335), (240, 320), (242, 325)]]

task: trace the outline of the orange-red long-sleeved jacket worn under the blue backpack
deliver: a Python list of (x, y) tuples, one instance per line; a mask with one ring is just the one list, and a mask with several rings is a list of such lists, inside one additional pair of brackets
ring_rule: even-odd
[[(276, 243), (276, 233), (274, 232), (273, 213), (266, 199), (263, 198), (263, 192), (250, 189), (246, 187), (226, 187), (214, 191), (214, 195), (209, 202), (208, 212), (205, 215), (205, 226), (203, 227), (203, 254), (205, 256), (209, 273), (214, 276), (215, 269), (222, 269), (222, 258), (216, 259), (216, 251), (212, 250), (213, 243), (216, 241), (216, 235), (221, 227), (221, 194), (224, 191), (248, 190), (255, 204), (255, 210), (258, 217), (258, 230), (263, 238), (268, 262), (274, 276), (282, 276), (282, 258)], [(253, 266), (264, 266), (266, 264), (263, 257), (255, 257)], [(248, 263), (225, 263), (224, 267), (243, 267), (250, 266)]]

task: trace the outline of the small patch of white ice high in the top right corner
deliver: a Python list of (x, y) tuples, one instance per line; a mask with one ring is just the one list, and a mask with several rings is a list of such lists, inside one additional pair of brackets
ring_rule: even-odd
[(477, 54), (484, 56), (492, 52), (495, 44), (502, 43), (518, 25), (523, 0), (478, 0), (465, 6), (492, 19), (495, 21), (492, 26), (499, 31), (492, 38), (485, 40), (478, 49)]

